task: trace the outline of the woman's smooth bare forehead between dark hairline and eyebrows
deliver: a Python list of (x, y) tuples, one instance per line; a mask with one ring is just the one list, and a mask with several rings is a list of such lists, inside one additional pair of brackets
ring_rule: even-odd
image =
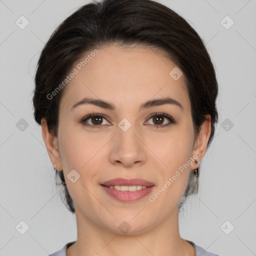
[(74, 63), (76, 74), (65, 87), (61, 107), (70, 108), (85, 96), (126, 107), (170, 96), (189, 108), (184, 75), (173, 79), (172, 70), (177, 66), (159, 50), (112, 45), (97, 48), (96, 54), (91, 52)]

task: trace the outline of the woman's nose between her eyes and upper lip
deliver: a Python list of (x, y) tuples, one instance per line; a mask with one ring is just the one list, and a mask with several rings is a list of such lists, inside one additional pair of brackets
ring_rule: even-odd
[(146, 146), (142, 141), (142, 135), (133, 128), (133, 125), (126, 131), (117, 127), (116, 134), (110, 142), (110, 162), (126, 168), (143, 164), (146, 160)]

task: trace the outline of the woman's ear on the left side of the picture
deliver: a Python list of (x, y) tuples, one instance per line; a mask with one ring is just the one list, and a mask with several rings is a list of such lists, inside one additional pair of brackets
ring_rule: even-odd
[(53, 136), (52, 133), (48, 130), (48, 125), (46, 119), (43, 117), (41, 119), (41, 127), (42, 127), (42, 137), (44, 144), (46, 146), (48, 155), (50, 157), (51, 163), (56, 164), (57, 170), (62, 170), (60, 154), (58, 150), (57, 137)]

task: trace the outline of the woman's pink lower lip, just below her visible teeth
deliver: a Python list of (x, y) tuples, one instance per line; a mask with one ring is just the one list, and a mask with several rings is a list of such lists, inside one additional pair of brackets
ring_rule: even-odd
[(139, 199), (141, 199), (142, 197), (146, 196), (147, 194), (149, 194), (154, 185), (153, 186), (148, 186), (147, 188), (144, 189), (140, 189), (137, 191), (119, 191), (116, 190), (114, 188), (110, 188), (107, 186), (103, 186), (103, 189), (112, 197), (114, 197), (115, 199), (122, 201), (122, 202), (133, 202), (133, 201), (137, 201)]

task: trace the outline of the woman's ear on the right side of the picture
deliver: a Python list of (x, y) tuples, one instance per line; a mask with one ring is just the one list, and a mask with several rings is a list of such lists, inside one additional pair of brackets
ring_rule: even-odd
[[(207, 149), (207, 143), (210, 136), (210, 120), (211, 116), (209, 114), (205, 115), (205, 121), (201, 124), (199, 133), (197, 135), (197, 138), (194, 142), (194, 147), (192, 151), (192, 156), (195, 160), (200, 161), (202, 157), (204, 156), (206, 149)], [(197, 156), (197, 158), (196, 158)], [(190, 169), (196, 169), (199, 166), (198, 163), (192, 161), (190, 165)]]

